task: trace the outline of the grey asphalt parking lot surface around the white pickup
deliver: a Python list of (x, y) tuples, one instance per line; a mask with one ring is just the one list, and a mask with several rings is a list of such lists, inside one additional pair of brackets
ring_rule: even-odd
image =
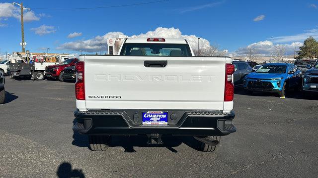
[[(144, 137), (114, 137), (106, 152), (72, 131), (73, 83), (6, 77), (0, 105), (2, 178), (314, 178), (318, 175), (318, 100), (236, 91), (234, 125), (214, 153), (183, 138), (149, 147)], [(311, 99), (312, 98), (312, 99)], [(73, 178), (72, 177), (72, 178)]]

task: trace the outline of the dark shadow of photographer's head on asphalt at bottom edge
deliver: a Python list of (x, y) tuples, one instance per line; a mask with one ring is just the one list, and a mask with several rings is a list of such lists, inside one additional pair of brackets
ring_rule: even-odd
[(60, 164), (56, 175), (58, 178), (85, 178), (82, 170), (72, 169), (71, 163), (68, 162)]

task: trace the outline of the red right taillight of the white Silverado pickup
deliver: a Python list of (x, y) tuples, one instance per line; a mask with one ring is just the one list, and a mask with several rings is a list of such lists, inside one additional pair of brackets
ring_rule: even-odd
[(233, 64), (226, 64), (225, 66), (225, 89), (224, 89), (224, 101), (233, 101), (234, 97), (234, 85), (232, 75), (235, 71)]

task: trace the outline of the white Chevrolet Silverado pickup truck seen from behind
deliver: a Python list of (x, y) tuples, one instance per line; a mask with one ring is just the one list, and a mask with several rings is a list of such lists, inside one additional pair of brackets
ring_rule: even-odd
[(80, 55), (76, 64), (77, 118), (73, 130), (104, 151), (111, 135), (193, 136), (214, 151), (232, 124), (230, 57), (195, 57), (184, 39), (130, 38), (119, 55)]

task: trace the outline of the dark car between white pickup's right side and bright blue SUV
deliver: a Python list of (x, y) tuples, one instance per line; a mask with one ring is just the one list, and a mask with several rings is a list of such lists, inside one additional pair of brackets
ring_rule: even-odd
[(243, 61), (233, 61), (233, 65), (235, 67), (234, 76), (234, 86), (241, 87), (243, 85), (244, 77), (253, 72), (252, 67), (249, 65), (248, 62)]

